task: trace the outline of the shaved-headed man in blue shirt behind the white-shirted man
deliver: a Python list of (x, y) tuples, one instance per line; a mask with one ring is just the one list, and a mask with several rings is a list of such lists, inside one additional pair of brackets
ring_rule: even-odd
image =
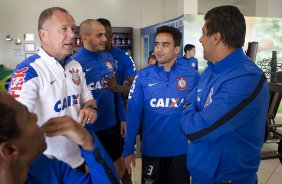
[(80, 24), (83, 48), (73, 58), (81, 64), (86, 84), (99, 108), (95, 124), (87, 125), (86, 128), (99, 137), (121, 178), (125, 168), (121, 160), (122, 142), (118, 120), (125, 124), (125, 110), (122, 94), (105, 88), (105, 77), (113, 77), (116, 73), (113, 57), (110, 53), (102, 52), (107, 41), (105, 32), (104, 26), (97, 20), (83, 21)]

